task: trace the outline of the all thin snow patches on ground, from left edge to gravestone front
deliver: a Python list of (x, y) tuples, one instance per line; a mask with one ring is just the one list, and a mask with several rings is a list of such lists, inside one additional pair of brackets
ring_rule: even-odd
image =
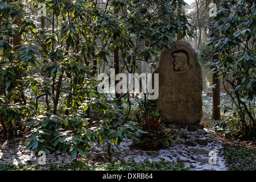
[[(34, 150), (25, 150), (23, 146), (24, 141), (20, 138), (6, 140), (5, 143), (0, 144), (0, 163), (11, 164), (25, 164), (26, 166), (37, 165), (40, 156), (35, 154)], [(225, 171), (228, 168), (225, 165), (225, 159), (221, 151), (222, 144), (220, 140), (215, 139), (207, 146), (195, 147), (186, 146), (185, 144), (176, 144), (166, 149), (147, 150), (135, 147), (133, 141), (126, 139), (119, 146), (119, 150), (115, 151), (114, 160), (121, 160), (131, 162), (143, 162), (143, 160), (159, 161), (162, 158), (170, 161), (181, 162), (185, 167), (189, 167), (191, 171), (214, 170)], [(214, 162), (214, 155), (209, 155), (210, 151), (216, 152), (216, 164), (209, 164)], [(88, 158), (82, 157), (84, 162), (89, 165), (100, 166), (107, 164), (99, 156), (102, 155), (102, 146), (98, 145), (89, 152)], [(106, 160), (105, 160), (106, 161)], [(61, 154), (56, 151), (51, 155), (46, 155), (46, 165), (64, 165), (72, 162), (72, 156), (65, 152)]]

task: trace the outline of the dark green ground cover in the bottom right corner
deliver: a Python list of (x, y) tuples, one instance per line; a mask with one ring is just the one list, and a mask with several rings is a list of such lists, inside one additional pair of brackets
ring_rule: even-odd
[(256, 171), (256, 150), (235, 144), (223, 144), (224, 155), (231, 171)]

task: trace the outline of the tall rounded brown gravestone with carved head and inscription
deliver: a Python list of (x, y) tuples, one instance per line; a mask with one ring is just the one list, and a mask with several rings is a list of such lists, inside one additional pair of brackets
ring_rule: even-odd
[(196, 51), (183, 40), (161, 52), (159, 66), (158, 109), (167, 124), (191, 125), (203, 117), (201, 67)]

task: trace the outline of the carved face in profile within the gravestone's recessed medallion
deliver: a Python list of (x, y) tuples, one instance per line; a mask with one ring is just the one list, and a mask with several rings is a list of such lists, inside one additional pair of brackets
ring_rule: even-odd
[(185, 55), (185, 53), (183, 52), (174, 53), (173, 57), (174, 57), (175, 72), (182, 72), (188, 68), (187, 55)]

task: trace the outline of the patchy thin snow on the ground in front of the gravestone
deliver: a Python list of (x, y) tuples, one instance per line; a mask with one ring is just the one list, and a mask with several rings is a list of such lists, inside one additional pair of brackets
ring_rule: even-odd
[[(143, 160), (158, 161), (163, 158), (166, 160), (181, 162), (185, 167), (191, 168), (192, 171), (225, 171), (227, 168), (225, 165), (225, 159), (220, 151), (221, 147), (221, 143), (219, 141), (215, 141), (209, 143), (208, 146), (197, 145), (196, 147), (191, 147), (179, 144), (157, 151), (130, 150), (131, 155), (126, 156), (126, 161), (129, 159), (134, 159), (135, 162), (142, 162)], [(210, 151), (216, 151), (216, 165), (209, 164), (210, 156), (208, 154)], [(122, 152), (119, 154), (122, 155)], [(120, 155), (118, 155), (118, 158), (120, 159)]]

